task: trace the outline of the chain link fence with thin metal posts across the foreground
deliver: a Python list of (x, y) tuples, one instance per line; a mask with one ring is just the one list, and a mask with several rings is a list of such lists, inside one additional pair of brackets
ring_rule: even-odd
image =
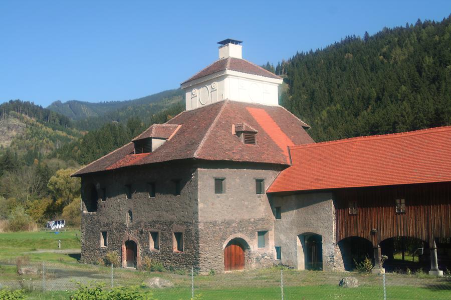
[(451, 299), (451, 276), (429, 276), (426, 272), (366, 274), (274, 267), (200, 275), (191, 269), (148, 272), (23, 258), (0, 261), (0, 287), (23, 289), (36, 298), (69, 299), (77, 282), (150, 289), (159, 300)]

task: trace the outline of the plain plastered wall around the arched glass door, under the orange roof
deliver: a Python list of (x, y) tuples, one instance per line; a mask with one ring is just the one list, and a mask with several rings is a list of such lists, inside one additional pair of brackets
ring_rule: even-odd
[(281, 247), (283, 264), (304, 269), (303, 236), (306, 236), (306, 233), (316, 233), (322, 238), (323, 270), (344, 270), (341, 251), (335, 240), (332, 193), (271, 195), (270, 202), (273, 208), (281, 207), (281, 219), (275, 220), (275, 243)]

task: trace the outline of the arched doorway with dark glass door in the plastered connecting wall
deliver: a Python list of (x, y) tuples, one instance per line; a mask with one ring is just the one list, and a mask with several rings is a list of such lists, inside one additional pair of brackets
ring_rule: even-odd
[(316, 233), (298, 235), (298, 269), (323, 269), (323, 241)]

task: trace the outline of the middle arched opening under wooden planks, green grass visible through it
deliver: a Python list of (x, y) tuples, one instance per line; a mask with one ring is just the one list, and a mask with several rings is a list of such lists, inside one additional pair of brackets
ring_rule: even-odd
[(408, 236), (396, 236), (382, 240), (380, 243), (382, 255), (386, 255), (384, 268), (387, 271), (415, 271), (419, 268), (428, 269), (428, 243)]

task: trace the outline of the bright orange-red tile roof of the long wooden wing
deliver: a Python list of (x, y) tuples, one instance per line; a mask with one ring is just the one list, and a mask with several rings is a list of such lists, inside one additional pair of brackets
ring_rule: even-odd
[(268, 192), (451, 181), (451, 126), (290, 147)]

